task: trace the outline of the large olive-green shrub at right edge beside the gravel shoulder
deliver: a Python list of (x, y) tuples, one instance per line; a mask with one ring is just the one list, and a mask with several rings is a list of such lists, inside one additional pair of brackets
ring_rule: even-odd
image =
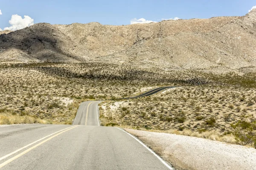
[(256, 122), (239, 121), (231, 124), (236, 142), (241, 145), (252, 145), (256, 148)]

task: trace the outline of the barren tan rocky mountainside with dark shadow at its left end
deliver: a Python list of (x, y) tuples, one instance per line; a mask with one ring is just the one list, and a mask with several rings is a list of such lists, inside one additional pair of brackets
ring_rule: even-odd
[[(7, 34), (8, 33), (8, 34)], [(256, 9), (243, 17), (0, 31), (0, 62), (108, 62), (164, 70), (256, 71)]]

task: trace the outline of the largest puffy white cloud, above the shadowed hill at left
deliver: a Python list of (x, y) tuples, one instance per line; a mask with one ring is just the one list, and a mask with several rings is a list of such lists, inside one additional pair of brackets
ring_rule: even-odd
[(21, 16), (15, 14), (15, 15), (12, 15), (11, 20), (9, 20), (9, 24), (11, 24), (11, 26), (6, 27), (3, 30), (16, 31), (18, 29), (23, 29), (28, 26), (32, 26), (34, 25), (34, 19), (32, 19), (27, 15), (24, 15), (24, 18), (22, 18)]

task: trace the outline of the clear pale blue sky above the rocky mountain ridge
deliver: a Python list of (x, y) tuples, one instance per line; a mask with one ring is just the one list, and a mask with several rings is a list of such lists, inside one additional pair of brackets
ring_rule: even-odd
[(256, 0), (0, 0), (0, 28), (10, 26), (12, 14), (28, 15), (34, 23), (127, 25), (134, 18), (242, 16), (253, 6)]

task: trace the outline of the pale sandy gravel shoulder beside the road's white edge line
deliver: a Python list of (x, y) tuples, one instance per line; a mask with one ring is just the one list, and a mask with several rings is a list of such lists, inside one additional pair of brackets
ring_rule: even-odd
[(176, 170), (256, 170), (256, 149), (169, 133), (125, 129)]

